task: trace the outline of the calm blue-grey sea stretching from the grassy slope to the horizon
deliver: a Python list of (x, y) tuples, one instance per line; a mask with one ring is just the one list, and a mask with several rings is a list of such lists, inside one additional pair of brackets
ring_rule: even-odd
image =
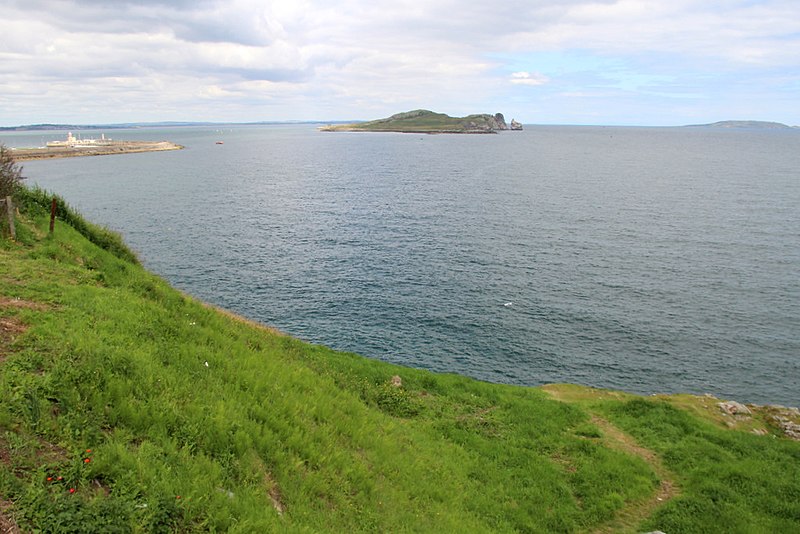
[(800, 404), (800, 131), (107, 134), (187, 148), (25, 174), (173, 285), (297, 337), (494, 382)]

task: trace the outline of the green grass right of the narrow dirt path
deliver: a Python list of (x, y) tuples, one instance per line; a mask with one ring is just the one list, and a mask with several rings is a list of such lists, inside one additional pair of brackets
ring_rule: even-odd
[(666, 532), (800, 532), (797, 442), (719, 428), (667, 401), (635, 399), (602, 410), (682, 474), (684, 494), (646, 528)]

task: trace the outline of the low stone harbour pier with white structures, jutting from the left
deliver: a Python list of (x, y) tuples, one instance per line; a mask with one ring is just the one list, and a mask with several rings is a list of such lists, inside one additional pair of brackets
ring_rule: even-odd
[(51, 141), (47, 146), (36, 148), (11, 148), (15, 161), (34, 159), (71, 158), (77, 156), (106, 156), (111, 154), (131, 154), (136, 152), (160, 152), (180, 150), (182, 145), (170, 141), (119, 141), (106, 138), (78, 139), (72, 132), (64, 141)]

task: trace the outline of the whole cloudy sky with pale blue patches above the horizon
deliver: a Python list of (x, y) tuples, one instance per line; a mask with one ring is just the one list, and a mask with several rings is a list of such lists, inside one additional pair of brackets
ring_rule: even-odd
[(417, 108), (800, 125), (800, 1), (0, 1), (0, 126)]

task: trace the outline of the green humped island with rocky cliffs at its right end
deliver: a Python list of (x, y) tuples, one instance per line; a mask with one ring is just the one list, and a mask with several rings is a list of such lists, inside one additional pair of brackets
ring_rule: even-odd
[(385, 119), (351, 124), (329, 124), (320, 126), (323, 132), (400, 132), (400, 133), (497, 133), (500, 130), (521, 130), (522, 124), (511, 121), (506, 124), (502, 113), (480, 114), (466, 117), (451, 117), (426, 109), (396, 113)]

